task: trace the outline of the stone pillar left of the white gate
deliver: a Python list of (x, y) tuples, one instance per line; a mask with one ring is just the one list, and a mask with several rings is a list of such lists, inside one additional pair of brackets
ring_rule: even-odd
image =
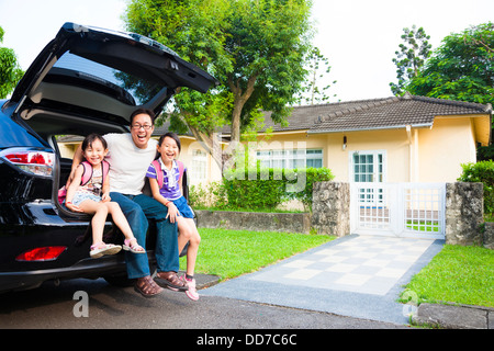
[(315, 182), (312, 199), (311, 226), (317, 234), (350, 234), (349, 183)]

